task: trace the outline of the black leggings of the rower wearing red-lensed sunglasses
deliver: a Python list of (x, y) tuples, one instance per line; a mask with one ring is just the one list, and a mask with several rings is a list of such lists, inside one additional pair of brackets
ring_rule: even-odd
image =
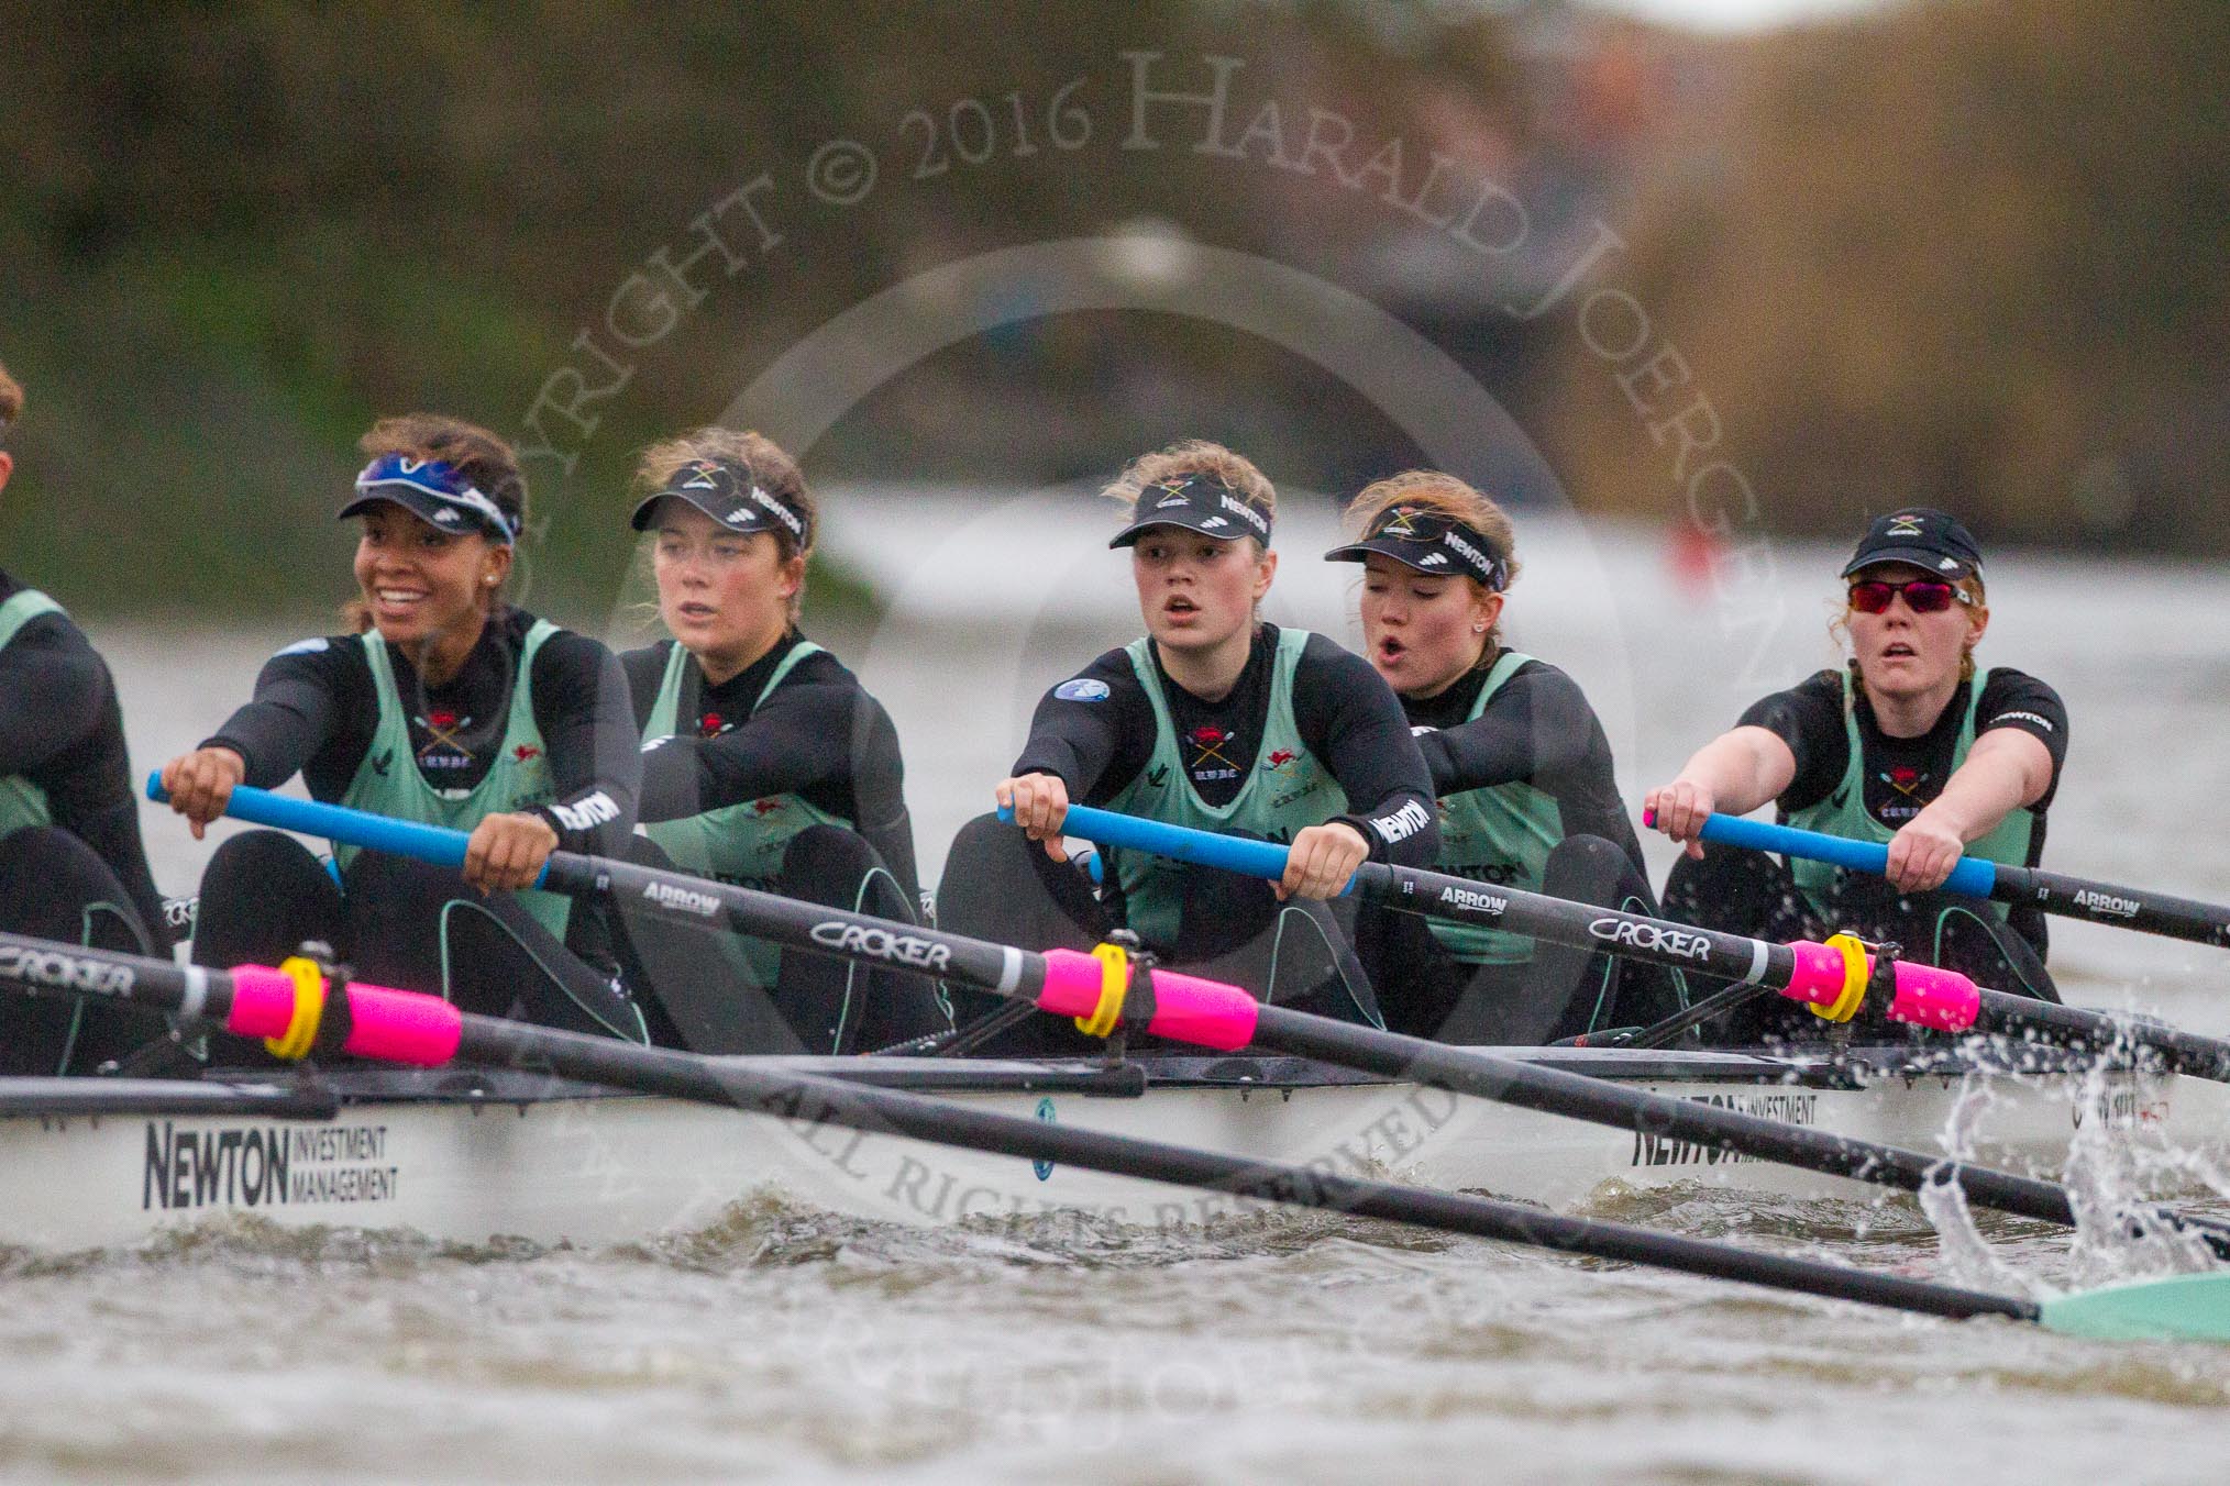
[[(1989, 905), (1945, 891), (1898, 893), (1887, 880), (1858, 873), (1842, 876), (1840, 884), (1829, 920), (1813, 913), (1782, 858), (1748, 847), (1704, 847), (1701, 862), (1684, 856), (1672, 864), (1672, 876), (1666, 878), (1666, 918), (1775, 945), (1851, 931), (1869, 942), (1896, 942), (1904, 958), (1956, 969), (1994, 991), (2061, 998), (2029, 940), (2005, 927)], [(1820, 1040), (1824, 1025), (1793, 1000), (1768, 994), (1735, 1007), (1717, 1027), (1715, 1040)], [(1896, 1036), (1909, 1032), (1871, 1005), (1860, 1011), (1855, 1027)]]

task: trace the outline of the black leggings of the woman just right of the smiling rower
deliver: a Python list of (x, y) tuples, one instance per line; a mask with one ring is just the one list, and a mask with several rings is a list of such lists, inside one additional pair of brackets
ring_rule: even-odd
[[(629, 856), (673, 869), (638, 835)], [(769, 893), (854, 913), (919, 922), (883, 858), (856, 831), (807, 827), (783, 849), (780, 876), (754, 882)], [(673, 1045), (702, 1054), (854, 1054), (952, 1029), (937, 980), (832, 956), (745, 942), (680, 925), (622, 902), (620, 954), (627, 978), (665, 1011)], [(772, 967), (774, 991), (765, 987)], [(660, 1032), (667, 1040), (667, 1032)]]

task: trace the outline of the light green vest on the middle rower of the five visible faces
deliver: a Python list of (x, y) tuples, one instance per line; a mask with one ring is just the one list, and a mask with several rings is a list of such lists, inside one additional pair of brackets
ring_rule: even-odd
[[(1293, 840), (1296, 831), (1322, 824), (1347, 811), (1347, 791), (1331, 771), (1300, 742), (1293, 724), (1293, 671), (1309, 630), (1278, 630), (1278, 657), (1271, 668), (1269, 708), (1262, 713), (1262, 744), (1240, 793), (1224, 806), (1206, 804), (1193, 791), (1193, 778), (1177, 755), (1177, 726), (1162, 693), (1162, 673), (1153, 664), (1153, 639), (1124, 646), (1146, 700), (1153, 702), (1153, 757), (1119, 795), (1111, 811), (1144, 815), (1195, 831), (1247, 833), (1262, 840)], [(1198, 871), (1146, 851), (1111, 851), (1115, 880), (1128, 909), (1128, 929), (1157, 949), (1177, 942), (1177, 916), (1184, 907), (1184, 876)]]

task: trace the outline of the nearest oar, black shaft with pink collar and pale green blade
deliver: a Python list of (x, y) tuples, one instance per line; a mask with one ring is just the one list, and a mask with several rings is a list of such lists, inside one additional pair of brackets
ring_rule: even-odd
[(348, 1052), (417, 1067), (450, 1060), (533, 1067), (638, 1094), (756, 1112), (780, 1118), (792, 1130), (832, 1125), (905, 1136), (1918, 1314), (1998, 1314), (2081, 1337), (2230, 1341), (2230, 1274), (2185, 1274), (2047, 1301), (1989, 1294), (1483, 1196), (1423, 1192), (1316, 1167), (1133, 1141), (899, 1089), (816, 1078), (758, 1058), (705, 1058), (620, 1038), (529, 1027), (464, 1014), (419, 991), (343, 985), (310, 960), (221, 971), (0, 933), (0, 982), (207, 1020), (241, 1036), (270, 1038), (272, 1049), (285, 1058)]

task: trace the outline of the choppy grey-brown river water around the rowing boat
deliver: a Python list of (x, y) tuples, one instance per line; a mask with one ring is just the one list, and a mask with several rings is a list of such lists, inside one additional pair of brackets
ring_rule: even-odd
[[(934, 878), (1035, 697), (1135, 633), (1124, 561), (1106, 512), (1061, 492), (852, 492), (830, 526), (890, 613), (816, 635), (899, 722)], [(1269, 617), (1351, 639), (1354, 568), (1313, 559), (1329, 532), (1282, 521)], [(1840, 550), (1757, 544), (1688, 588), (1652, 532), (1534, 517), (1521, 557), (1512, 639), (1594, 697), (1628, 798), (1833, 659)], [(2011, 555), (1991, 606), (1982, 657), (2047, 677), (2074, 717), (2052, 864), (2230, 896), (2230, 847), (2192, 813), (2230, 793), (2230, 581)], [(100, 626), (134, 760), (190, 746), (294, 637)], [(161, 884), (187, 891), (207, 847), (154, 811), (147, 831)], [(2054, 967), (2072, 1000), (2230, 1032), (2219, 951), (2058, 922)], [(736, 1196), (607, 1250), (203, 1230), (4, 1254), (0, 1475), (2223, 1479), (2219, 1348), (1902, 1319), (1318, 1214), (932, 1232)], [(2110, 1239), (1989, 1216), (1987, 1248), (1960, 1223), (1940, 1245), (1902, 1199), (1606, 1187), (1586, 1210), (1982, 1288), (2123, 1263)]]

